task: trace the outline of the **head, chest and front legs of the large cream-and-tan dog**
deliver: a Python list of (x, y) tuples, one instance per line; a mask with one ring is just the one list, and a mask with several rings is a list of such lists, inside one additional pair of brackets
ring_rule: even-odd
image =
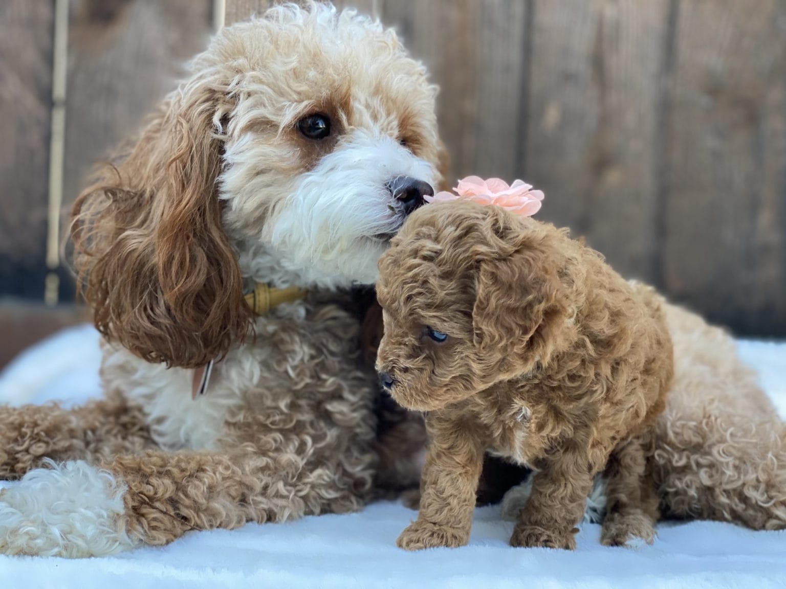
[[(0, 552), (110, 554), (369, 496), (376, 375), (348, 289), (440, 181), (435, 87), (392, 31), (323, 4), (227, 28), (190, 71), (75, 203), (105, 398), (0, 408), (0, 477), (22, 477)], [(255, 284), (286, 302), (253, 316)]]

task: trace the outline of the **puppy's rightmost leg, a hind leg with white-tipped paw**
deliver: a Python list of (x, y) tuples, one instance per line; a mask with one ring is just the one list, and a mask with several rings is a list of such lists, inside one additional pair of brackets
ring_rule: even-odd
[(658, 499), (643, 446), (640, 438), (623, 441), (609, 457), (601, 533), (604, 546), (630, 545), (635, 538), (651, 544), (655, 539)]

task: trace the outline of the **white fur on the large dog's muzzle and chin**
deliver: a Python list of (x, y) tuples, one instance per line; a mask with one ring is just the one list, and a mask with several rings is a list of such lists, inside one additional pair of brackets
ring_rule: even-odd
[(262, 239), (335, 284), (373, 284), (376, 262), (405, 215), (387, 181), (435, 181), (435, 170), (391, 137), (356, 130), (274, 206)]

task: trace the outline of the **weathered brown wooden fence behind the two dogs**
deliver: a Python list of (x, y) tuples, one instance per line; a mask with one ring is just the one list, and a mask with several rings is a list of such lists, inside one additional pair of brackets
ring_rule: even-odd
[[(64, 204), (216, 25), (269, 3), (72, 0)], [(740, 335), (786, 336), (786, 0), (339, 4), (431, 68), (453, 177), (522, 177), (545, 190), (542, 218), (622, 273)], [(38, 300), (53, 15), (0, 2), (0, 295)]]

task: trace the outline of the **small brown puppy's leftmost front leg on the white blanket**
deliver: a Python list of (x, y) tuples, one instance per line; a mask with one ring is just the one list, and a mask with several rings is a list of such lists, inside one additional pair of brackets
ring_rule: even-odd
[(429, 427), (429, 434), (417, 521), (396, 540), (399, 548), (410, 551), (464, 546), (469, 541), (483, 466), (484, 446), (471, 433), (449, 427), (440, 435)]

